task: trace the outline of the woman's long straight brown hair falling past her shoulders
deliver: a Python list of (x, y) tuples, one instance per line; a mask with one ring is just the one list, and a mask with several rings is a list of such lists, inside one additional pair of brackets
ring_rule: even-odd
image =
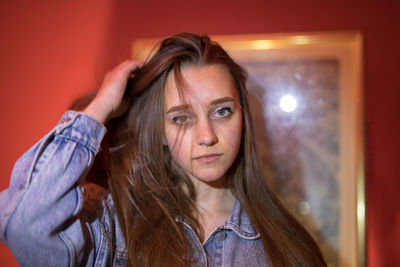
[[(219, 64), (232, 75), (243, 112), (241, 147), (229, 185), (261, 235), (273, 266), (326, 266), (307, 231), (271, 193), (257, 165), (246, 90), (246, 73), (208, 36), (181, 33), (164, 39), (136, 73), (128, 91), (136, 95), (114, 138), (110, 191), (128, 253), (127, 266), (190, 266), (193, 247), (183, 216), (202, 235), (193, 215), (193, 184), (163, 145), (164, 87), (187, 65)], [(185, 188), (185, 190), (183, 189)]]

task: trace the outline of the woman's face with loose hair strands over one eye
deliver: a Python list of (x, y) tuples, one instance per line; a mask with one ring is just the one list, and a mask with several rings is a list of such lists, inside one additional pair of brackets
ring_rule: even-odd
[(165, 140), (174, 160), (191, 179), (221, 181), (240, 148), (242, 110), (230, 73), (220, 65), (181, 70), (185, 93), (173, 72), (165, 87)]

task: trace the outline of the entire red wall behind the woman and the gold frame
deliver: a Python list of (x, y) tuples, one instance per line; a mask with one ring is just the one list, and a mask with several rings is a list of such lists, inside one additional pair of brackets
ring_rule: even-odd
[[(0, 190), (13, 162), (137, 37), (360, 30), (365, 37), (369, 266), (400, 264), (398, 1), (67, 1), (0, 4)], [(243, 3), (246, 3), (243, 4)], [(2, 266), (17, 266), (0, 245)]]

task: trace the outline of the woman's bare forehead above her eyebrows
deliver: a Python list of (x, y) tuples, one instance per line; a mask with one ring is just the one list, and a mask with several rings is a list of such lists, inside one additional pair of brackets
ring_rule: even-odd
[(221, 65), (185, 66), (181, 69), (182, 81), (177, 86), (173, 71), (165, 84), (165, 108), (184, 103), (207, 103), (224, 97), (239, 101), (235, 82)]

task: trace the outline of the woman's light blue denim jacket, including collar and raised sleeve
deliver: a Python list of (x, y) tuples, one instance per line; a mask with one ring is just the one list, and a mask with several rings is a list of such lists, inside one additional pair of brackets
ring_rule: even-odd
[[(0, 193), (0, 240), (22, 266), (123, 266), (126, 262), (111, 196), (83, 186), (105, 132), (102, 124), (85, 114), (67, 111), (15, 164), (9, 188)], [(203, 243), (188, 224), (177, 220), (201, 252), (196, 255), (198, 266), (269, 265), (260, 234), (238, 201), (225, 224)]]

